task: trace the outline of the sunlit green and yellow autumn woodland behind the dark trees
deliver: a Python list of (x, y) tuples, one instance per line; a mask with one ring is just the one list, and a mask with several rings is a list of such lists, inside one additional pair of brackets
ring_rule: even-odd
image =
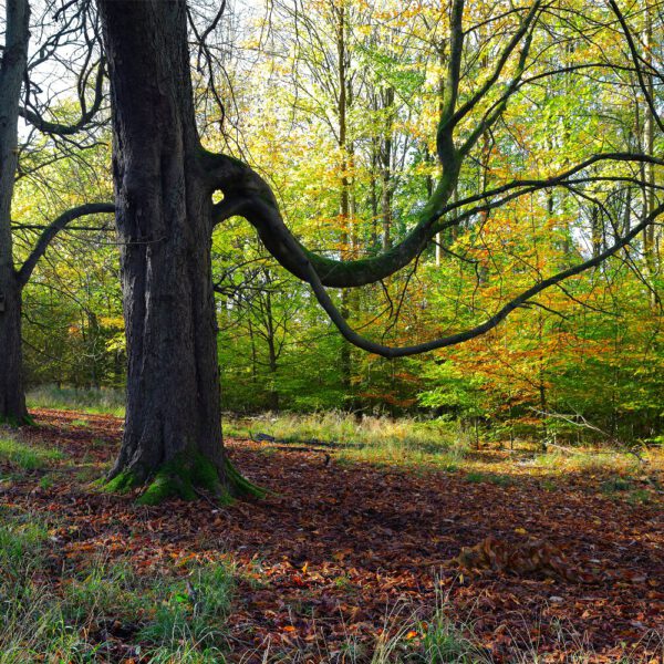
[[(634, 69), (599, 74), (583, 66), (629, 62), (619, 27), (606, 23), (610, 10), (584, 0), (566, 8), (538, 32), (527, 72), (536, 82), (513, 94), (500, 122), (483, 134), (461, 170), (458, 198), (547, 177), (598, 153), (661, 153)], [(268, 178), (304, 245), (343, 259), (374, 256), (406, 235), (438, 175), (447, 12), (434, 2), (392, 0), (317, 0), (305, 10), (287, 1), (267, 9), (227, 3), (208, 45), (214, 58), (196, 63), (203, 139)], [(492, 10), (474, 2), (473, 11), (480, 20)], [(627, 15), (650, 63), (645, 84), (660, 104), (661, 8), (640, 0)], [(500, 35), (495, 18), (471, 33), (467, 80), (491, 69)], [(60, 55), (72, 72), (75, 52), (72, 44)], [(562, 73), (537, 81), (552, 69)], [(66, 68), (42, 75), (50, 120), (75, 118), (79, 100)], [(93, 87), (91, 80), (83, 95), (93, 96)], [(28, 131), (21, 138), (13, 205), (19, 259), (62, 209), (111, 200), (113, 187), (104, 110), (81, 139)], [(598, 256), (653, 209), (643, 187), (612, 181), (612, 168), (593, 165), (591, 175), (602, 177), (596, 184), (538, 189), (468, 216), (409, 269), (361, 291), (338, 290), (335, 301), (355, 329), (393, 345), (470, 328), (542, 276)], [(657, 187), (654, 166), (633, 169)], [(499, 440), (661, 443), (661, 235), (654, 225), (470, 342), (385, 360), (353, 350), (309, 286), (280, 268), (250, 227), (227, 221), (214, 250), (224, 407), (437, 417)], [(29, 387), (108, 397), (123, 390), (117, 249), (108, 217), (73, 222), (53, 240), (23, 297)]]

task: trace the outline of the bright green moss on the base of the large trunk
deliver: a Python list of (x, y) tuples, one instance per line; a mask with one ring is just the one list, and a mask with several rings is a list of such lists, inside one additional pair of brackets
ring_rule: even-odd
[(137, 499), (139, 505), (159, 505), (169, 498), (196, 500), (201, 492), (219, 505), (228, 505), (234, 498), (266, 497), (268, 491), (242, 477), (228, 458), (225, 470), (226, 483), (222, 483), (216, 466), (204, 455), (180, 453), (163, 464), (147, 483), (138, 473), (124, 470), (105, 483), (104, 489), (122, 494), (145, 486)]

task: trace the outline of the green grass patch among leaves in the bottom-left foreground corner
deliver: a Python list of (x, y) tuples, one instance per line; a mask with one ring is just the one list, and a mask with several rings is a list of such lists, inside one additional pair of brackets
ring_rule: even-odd
[(226, 563), (136, 573), (128, 562), (50, 566), (46, 523), (0, 512), (0, 664), (105, 662), (103, 634), (142, 662), (224, 662), (235, 570)]

